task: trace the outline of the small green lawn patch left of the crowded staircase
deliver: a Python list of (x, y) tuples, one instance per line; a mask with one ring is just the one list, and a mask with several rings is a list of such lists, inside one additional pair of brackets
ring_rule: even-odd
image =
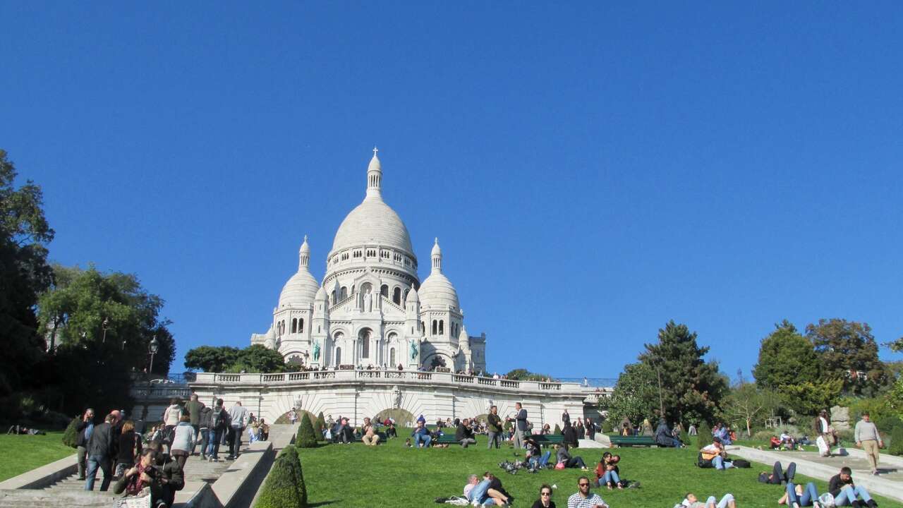
[(46, 436), (0, 435), (0, 482), (73, 454), (75, 449), (62, 444), (61, 430)]

